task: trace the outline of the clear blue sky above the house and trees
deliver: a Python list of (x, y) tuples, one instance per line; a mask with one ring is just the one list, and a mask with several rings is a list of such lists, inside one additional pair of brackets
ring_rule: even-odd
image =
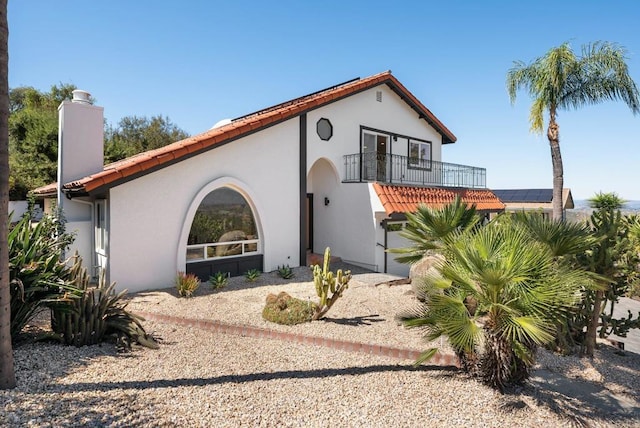
[[(640, 2), (9, 0), (9, 85), (92, 93), (108, 122), (168, 116), (196, 134), (354, 77), (393, 74), (453, 131), (443, 160), (491, 188), (552, 187), (530, 99), (505, 75), (569, 41), (628, 49), (640, 84)], [(640, 199), (640, 116), (623, 103), (561, 112), (574, 198)]]

